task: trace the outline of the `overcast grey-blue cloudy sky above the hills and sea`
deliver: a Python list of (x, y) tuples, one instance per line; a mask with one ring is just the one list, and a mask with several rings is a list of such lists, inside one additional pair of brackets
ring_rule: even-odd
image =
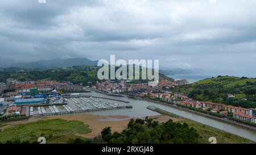
[(256, 71), (255, 0), (1, 0), (0, 57)]

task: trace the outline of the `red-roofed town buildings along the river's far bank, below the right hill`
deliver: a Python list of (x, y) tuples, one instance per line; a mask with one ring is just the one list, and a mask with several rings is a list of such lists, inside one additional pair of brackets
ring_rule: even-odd
[[(160, 102), (171, 103), (176, 106), (192, 108), (192, 110), (200, 110), (207, 114), (226, 118), (231, 116), (238, 120), (244, 120), (256, 123), (256, 108), (242, 108), (236, 106), (227, 106), (221, 103), (203, 102), (193, 100), (187, 95), (179, 92), (169, 91), (171, 87), (186, 85), (188, 83), (176, 83), (171, 81), (159, 81), (157, 86), (148, 86), (147, 83), (138, 83), (126, 86), (130, 81), (105, 81), (98, 82), (93, 88), (108, 94), (126, 94), (134, 97), (159, 100)], [(227, 94), (228, 98), (234, 98), (234, 95)]]

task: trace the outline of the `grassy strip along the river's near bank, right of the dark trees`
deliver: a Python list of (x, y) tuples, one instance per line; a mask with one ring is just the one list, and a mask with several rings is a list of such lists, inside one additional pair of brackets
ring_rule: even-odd
[(254, 143), (253, 141), (244, 139), (243, 137), (234, 135), (232, 133), (228, 133), (225, 131), (221, 131), (220, 129), (216, 129), (213, 127), (209, 127), (208, 125), (204, 125), (193, 120), (181, 118), (175, 114), (172, 114), (167, 111), (158, 111), (160, 114), (168, 115), (174, 118), (180, 119), (179, 123), (187, 123), (189, 127), (193, 127), (199, 133), (200, 139), (199, 143), (201, 144), (209, 144), (209, 137), (216, 137), (218, 144), (247, 144)]

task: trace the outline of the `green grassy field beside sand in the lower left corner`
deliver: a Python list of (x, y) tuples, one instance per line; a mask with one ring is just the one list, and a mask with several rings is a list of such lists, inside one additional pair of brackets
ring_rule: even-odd
[(89, 132), (91, 132), (89, 126), (79, 121), (39, 120), (4, 129), (0, 132), (0, 141), (4, 143), (7, 140), (19, 139), (33, 142), (43, 136), (46, 137), (47, 143), (67, 143), (69, 139), (79, 137), (75, 136), (76, 133), (86, 134)]

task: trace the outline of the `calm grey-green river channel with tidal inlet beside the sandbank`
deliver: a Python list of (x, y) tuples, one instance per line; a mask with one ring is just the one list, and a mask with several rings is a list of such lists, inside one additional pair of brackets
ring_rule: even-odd
[(203, 123), (203, 124), (209, 125), (211, 127), (221, 129), (226, 132), (234, 133), (238, 136), (245, 137), (246, 139), (250, 139), (250, 140), (253, 140), (256, 142), (256, 132), (253, 130), (245, 129), (245, 128), (239, 127), (237, 125), (230, 125), (230, 124), (218, 122), (217, 120), (205, 118), (203, 116), (199, 116), (196, 114), (191, 114), (190, 112), (178, 110), (173, 107), (165, 106), (162, 104), (157, 104), (157, 103), (146, 101), (146, 100), (138, 100), (138, 99), (131, 99), (131, 98), (123, 98), (123, 97), (113, 97), (113, 96), (109, 96), (109, 95), (105, 95), (105, 94), (100, 94), (100, 93), (97, 93), (94, 91), (92, 91), (90, 93), (83, 93), (83, 94), (93, 95), (93, 96), (97, 96), (97, 97), (106, 97), (106, 98), (127, 100), (130, 103), (118, 102), (118, 104), (122, 104), (122, 105), (130, 104), (133, 106), (133, 108), (131, 108), (131, 109), (127, 108), (127, 109), (122, 109), (122, 110), (97, 111), (97, 112), (93, 112), (92, 114), (103, 115), (103, 116), (104, 115), (105, 116), (107, 116), (107, 115), (125, 115), (125, 116), (129, 116), (130, 118), (132, 118), (132, 117), (142, 118), (145, 116), (159, 115), (157, 112), (148, 110), (146, 108), (147, 106), (156, 106), (156, 107), (162, 108), (163, 110), (171, 112), (173, 114), (183, 116), (184, 118), (188, 118), (188, 119), (194, 120), (196, 122)]

